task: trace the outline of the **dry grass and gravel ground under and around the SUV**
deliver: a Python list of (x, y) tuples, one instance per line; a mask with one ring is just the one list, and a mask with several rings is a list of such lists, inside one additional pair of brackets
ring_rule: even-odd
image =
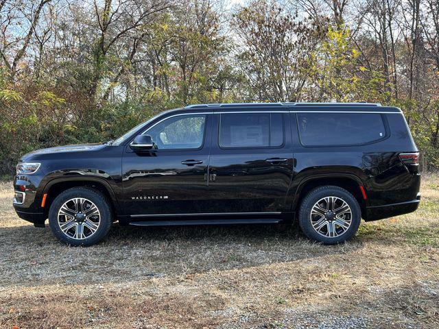
[[(0, 328), (439, 328), (439, 175), (344, 245), (298, 228), (121, 228), (67, 247), (0, 184)], [(16, 328), (17, 328), (16, 327)]]

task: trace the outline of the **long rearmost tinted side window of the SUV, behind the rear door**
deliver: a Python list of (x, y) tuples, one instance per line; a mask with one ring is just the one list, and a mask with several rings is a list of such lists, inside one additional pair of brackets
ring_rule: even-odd
[(377, 113), (298, 113), (300, 141), (305, 146), (368, 144), (385, 138)]

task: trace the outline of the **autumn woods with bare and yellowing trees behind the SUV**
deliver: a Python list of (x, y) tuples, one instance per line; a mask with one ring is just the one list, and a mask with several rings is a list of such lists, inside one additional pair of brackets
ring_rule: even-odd
[(190, 103), (399, 106), (439, 168), (439, 0), (0, 0), (0, 175)]

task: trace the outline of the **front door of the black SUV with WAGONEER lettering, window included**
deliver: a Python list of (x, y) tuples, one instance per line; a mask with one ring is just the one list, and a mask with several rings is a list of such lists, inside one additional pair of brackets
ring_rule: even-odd
[(143, 134), (154, 148), (134, 151), (122, 160), (123, 193), (127, 215), (208, 212), (207, 166), (212, 114), (176, 114)]

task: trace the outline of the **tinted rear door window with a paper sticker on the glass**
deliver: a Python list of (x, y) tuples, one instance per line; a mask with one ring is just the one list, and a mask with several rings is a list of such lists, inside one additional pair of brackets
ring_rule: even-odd
[(282, 113), (221, 114), (222, 147), (278, 147), (283, 144)]

